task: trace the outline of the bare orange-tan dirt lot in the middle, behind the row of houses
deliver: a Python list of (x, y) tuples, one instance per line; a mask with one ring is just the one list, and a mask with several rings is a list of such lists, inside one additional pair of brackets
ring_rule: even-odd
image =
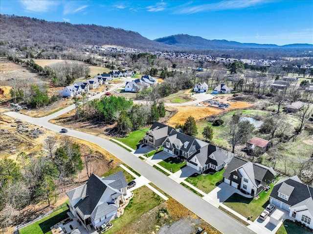
[(222, 112), (226, 112), (229, 110), (243, 109), (253, 106), (253, 104), (251, 103), (231, 101), (230, 100), (231, 96), (232, 95), (221, 95), (214, 98), (215, 101), (231, 105), (227, 109), (211, 107), (208, 106), (207, 103), (200, 103), (201, 105), (204, 106), (193, 105), (193, 106), (176, 106), (175, 108), (173, 107), (174, 109), (177, 109), (177, 113), (167, 121), (167, 124), (172, 127), (175, 127), (175, 125), (178, 123), (183, 124), (190, 115), (193, 116), (196, 121), (198, 121), (208, 116), (220, 114)]

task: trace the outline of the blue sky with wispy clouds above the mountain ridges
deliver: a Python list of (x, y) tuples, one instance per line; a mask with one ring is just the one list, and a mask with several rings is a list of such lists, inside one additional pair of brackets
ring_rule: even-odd
[(0, 13), (111, 26), (151, 40), (188, 34), (240, 43), (313, 44), (313, 0), (0, 0)]

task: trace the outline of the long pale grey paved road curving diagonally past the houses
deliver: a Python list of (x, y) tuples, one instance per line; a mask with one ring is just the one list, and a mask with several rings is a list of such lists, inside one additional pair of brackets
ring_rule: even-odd
[[(61, 126), (47, 122), (47, 120), (50, 119), (51, 116), (44, 118), (32, 118), (12, 111), (6, 112), (4, 114), (16, 119), (20, 119), (22, 121), (29, 122), (37, 126), (43, 126), (44, 128), (56, 132), (60, 132), (62, 128)], [(58, 114), (60, 114), (60, 112), (58, 112)], [(72, 129), (69, 129), (67, 133), (62, 134), (92, 142), (102, 147), (103, 149), (106, 149), (114, 156), (116, 156), (118, 159), (123, 161), (126, 165), (128, 165), (129, 167), (133, 168), (138, 173), (146, 177), (158, 188), (165, 191), (171, 197), (176, 199), (179, 203), (184, 205), (193, 213), (197, 214), (199, 217), (201, 217), (203, 220), (211, 224), (213, 227), (215, 227), (222, 233), (224, 234), (254, 233), (243, 224), (239, 223), (232, 217), (228, 216), (227, 214), (215, 208), (208, 202), (204, 201), (201, 197), (197, 196), (195, 193), (179, 185), (178, 183), (164, 175), (162, 172), (149, 166), (141, 159), (135, 157), (132, 153), (128, 152), (122, 147), (119, 147), (118, 145), (112, 143), (111, 141)]]

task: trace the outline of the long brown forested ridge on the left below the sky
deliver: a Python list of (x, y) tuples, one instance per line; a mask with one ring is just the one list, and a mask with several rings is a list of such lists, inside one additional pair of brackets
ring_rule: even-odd
[(138, 49), (170, 49), (137, 32), (95, 24), (50, 22), (29, 17), (0, 15), (0, 40), (11, 47), (23, 46), (60, 49), (77, 45), (118, 45)]

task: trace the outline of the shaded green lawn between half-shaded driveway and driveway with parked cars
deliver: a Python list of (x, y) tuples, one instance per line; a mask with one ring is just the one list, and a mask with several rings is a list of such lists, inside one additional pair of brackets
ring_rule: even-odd
[[(277, 178), (278, 181), (280, 178)], [(270, 192), (273, 190), (274, 184), (270, 184), (270, 189), (268, 192), (261, 192), (259, 194), (259, 199), (255, 200), (253, 198), (246, 198), (238, 193), (234, 193), (230, 196), (225, 202), (224, 205), (228, 206), (230, 209), (240, 213), (241, 215), (248, 216), (252, 215), (251, 221), (254, 221), (258, 218), (258, 216), (264, 211), (264, 209), (269, 204), (269, 195)]]

